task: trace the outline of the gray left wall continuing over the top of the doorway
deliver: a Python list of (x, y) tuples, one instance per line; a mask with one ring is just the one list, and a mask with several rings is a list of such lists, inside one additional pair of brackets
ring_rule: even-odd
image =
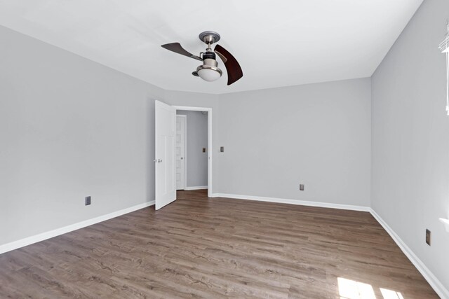
[(154, 99), (217, 106), (5, 27), (0, 39), (0, 245), (154, 200)]

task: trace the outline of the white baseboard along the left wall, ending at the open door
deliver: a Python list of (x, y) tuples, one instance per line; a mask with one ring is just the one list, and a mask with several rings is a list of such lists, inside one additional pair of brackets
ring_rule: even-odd
[(72, 232), (73, 230), (78, 230), (80, 228), (85, 228), (86, 226), (93, 225), (95, 223), (99, 223), (99, 222), (102, 222), (102, 221), (109, 220), (111, 218), (115, 218), (115, 217), (118, 217), (118, 216), (121, 216), (121, 215), (124, 215), (124, 214), (128, 214), (128, 213), (130, 213), (132, 211), (137, 211), (138, 209), (143, 209), (145, 207), (152, 206), (153, 204), (154, 204), (154, 200), (152, 202), (145, 202), (143, 204), (138, 204), (138, 205), (135, 205), (133, 207), (128, 207), (126, 209), (121, 209), (120, 211), (114, 211), (112, 213), (109, 213), (109, 214), (106, 214), (106, 215), (102, 215), (102, 216), (98, 216), (98, 217), (95, 217), (95, 218), (91, 218), (91, 219), (88, 219), (88, 220), (85, 220), (85, 221), (81, 221), (79, 223), (74, 223), (74, 224), (71, 224), (71, 225), (67, 225), (67, 226), (64, 226), (62, 228), (57, 228), (55, 230), (50, 230), (48, 232), (42, 232), (39, 235), (34, 235), (34, 236), (31, 236), (31, 237), (26, 237), (24, 239), (20, 239), (20, 240), (17, 240), (17, 241), (6, 243), (6, 244), (3, 244), (3, 245), (0, 245), (0, 254), (1, 253), (5, 253), (7, 251), (14, 250), (14, 249), (18, 249), (20, 247), (24, 247), (24, 246), (27, 246), (27, 245), (30, 245), (30, 244), (33, 244), (33, 243), (36, 243), (36, 242), (41, 242), (43, 240), (50, 239), (50, 238), (56, 237), (58, 235), (65, 234), (67, 232)]

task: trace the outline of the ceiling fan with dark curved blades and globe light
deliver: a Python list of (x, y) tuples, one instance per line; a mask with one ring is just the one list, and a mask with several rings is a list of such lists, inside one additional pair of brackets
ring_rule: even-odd
[(210, 48), (213, 43), (220, 41), (220, 34), (217, 34), (217, 32), (205, 31), (199, 34), (199, 39), (208, 46), (206, 48), (206, 52), (201, 52), (199, 56), (187, 52), (187, 50), (182, 48), (180, 43), (167, 43), (161, 47), (203, 62), (202, 65), (196, 68), (196, 71), (192, 72), (192, 75), (200, 77), (205, 81), (215, 81), (222, 76), (222, 70), (217, 67), (215, 53), (217, 53), (217, 55), (225, 63), (227, 71), (227, 85), (231, 85), (243, 77), (243, 71), (241, 70), (240, 64), (234, 56), (231, 55), (231, 53), (220, 45), (215, 46), (213, 50)]

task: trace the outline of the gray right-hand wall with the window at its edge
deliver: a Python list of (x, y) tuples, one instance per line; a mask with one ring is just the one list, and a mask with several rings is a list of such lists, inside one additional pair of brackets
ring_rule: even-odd
[[(372, 78), (372, 206), (449, 288), (448, 0), (424, 0)], [(433, 244), (424, 242), (425, 230)]]

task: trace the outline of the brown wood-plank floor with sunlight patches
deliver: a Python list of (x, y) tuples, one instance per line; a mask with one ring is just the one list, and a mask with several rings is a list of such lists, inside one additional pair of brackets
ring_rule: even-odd
[(0, 298), (438, 298), (369, 213), (177, 198), (1, 254)]

